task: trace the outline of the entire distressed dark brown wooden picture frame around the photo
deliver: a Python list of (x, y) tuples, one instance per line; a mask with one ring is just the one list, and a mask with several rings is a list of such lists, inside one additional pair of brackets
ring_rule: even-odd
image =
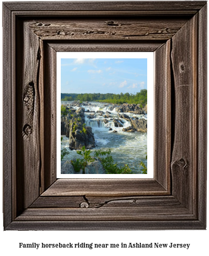
[[(206, 2), (3, 3), (5, 230), (206, 228)], [(56, 52), (154, 52), (153, 179), (56, 179)]]

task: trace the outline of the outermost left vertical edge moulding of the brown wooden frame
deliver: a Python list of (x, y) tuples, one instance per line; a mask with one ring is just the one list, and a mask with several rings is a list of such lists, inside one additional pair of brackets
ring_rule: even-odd
[[(12, 15), (3, 3), (3, 210), (4, 229), (12, 221), (12, 44), (11, 44)], [(10, 118), (8, 118), (10, 117)]]

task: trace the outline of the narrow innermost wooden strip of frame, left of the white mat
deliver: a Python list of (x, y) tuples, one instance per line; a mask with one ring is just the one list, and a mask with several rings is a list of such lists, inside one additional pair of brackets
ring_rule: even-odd
[[(57, 55), (45, 44), (44, 54), (44, 190), (57, 179)], [(43, 191), (44, 191), (43, 190)]]

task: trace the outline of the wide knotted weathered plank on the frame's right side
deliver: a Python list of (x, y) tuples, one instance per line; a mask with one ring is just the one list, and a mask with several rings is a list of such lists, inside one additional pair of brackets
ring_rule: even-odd
[[(196, 16), (172, 38), (174, 141), (172, 194), (194, 212), (196, 195)], [(195, 38), (194, 38), (195, 37)], [(194, 208), (193, 208), (194, 207)]]

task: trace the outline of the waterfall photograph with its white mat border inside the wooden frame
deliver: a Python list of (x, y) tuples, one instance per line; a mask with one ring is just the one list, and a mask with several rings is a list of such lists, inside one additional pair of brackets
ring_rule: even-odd
[(60, 150), (57, 178), (153, 178), (153, 53), (57, 53)]

